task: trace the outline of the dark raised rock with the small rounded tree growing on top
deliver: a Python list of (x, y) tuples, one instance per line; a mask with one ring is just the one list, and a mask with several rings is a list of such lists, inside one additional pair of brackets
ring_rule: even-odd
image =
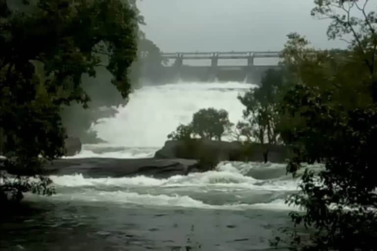
[[(168, 140), (162, 149), (155, 153), (155, 158), (188, 158), (205, 160), (211, 165), (220, 161), (269, 161), (285, 163), (289, 157), (288, 148), (269, 144), (243, 145), (241, 142), (215, 140)], [(203, 165), (200, 165), (203, 168)]]

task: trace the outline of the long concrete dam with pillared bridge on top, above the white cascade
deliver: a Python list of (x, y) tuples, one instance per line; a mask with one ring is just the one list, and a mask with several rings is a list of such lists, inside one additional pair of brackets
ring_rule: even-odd
[[(280, 51), (162, 52), (163, 65), (158, 73), (146, 68), (143, 75), (151, 79), (158, 75), (163, 82), (259, 83), (268, 69), (280, 67), (280, 55)], [(148, 53), (143, 53), (142, 57), (147, 58)], [(262, 63), (256, 63), (257, 60)]]

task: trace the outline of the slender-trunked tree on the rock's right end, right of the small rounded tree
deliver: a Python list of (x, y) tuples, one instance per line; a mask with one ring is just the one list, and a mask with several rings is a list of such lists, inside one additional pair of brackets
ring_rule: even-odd
[(236, 125), (238, 135), (262, 144), (279, 143), (277, 107), (286, 85), (284, 70), (270, 69), (263, 76), (259, 88), (238, 96), (245, 106), (244, 121)]

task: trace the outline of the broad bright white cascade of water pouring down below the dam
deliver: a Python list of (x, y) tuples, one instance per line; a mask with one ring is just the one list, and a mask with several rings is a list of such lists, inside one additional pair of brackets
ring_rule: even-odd
[(256, 85), (227, 83), (177, 83), (145, 86), (130, 95), (126, 106), (113, 118), (101, 119), (91, 127), (98, 137), (113, 146), (159, 148), (180, 124), (187, 124), (201, 108), (225, 109), (229, 119), (242, 119), (243, 106), (237, 99)]

